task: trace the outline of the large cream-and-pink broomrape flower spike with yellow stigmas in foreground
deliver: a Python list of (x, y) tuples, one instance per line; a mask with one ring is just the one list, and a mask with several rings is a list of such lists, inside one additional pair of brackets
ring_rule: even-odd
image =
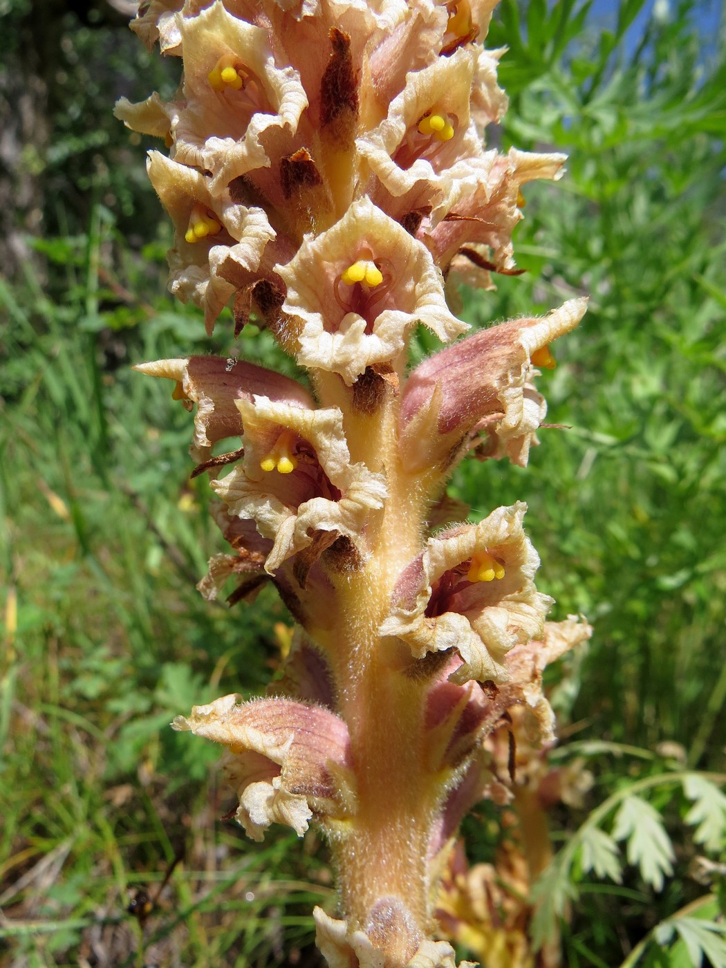
[[(133, 29), (183, 80), (168, 103), (116, 107), (166, 140), (148, 170), (175, 229), (171, 291), (210, 334), (233, 300), (235, 334), (254, 315), (307, 370), (309, 386), (207, 356), (137, 368), (197, 405), (195, 472), (232, 549), (200, 589), (272, 582), (297, 623), (268, 698), (173, 726), (226, 747), (251, 837), (324, 832), (332, 968), (454, 965), (432, 940), (439, 878), (469, 807), (511, 797), (488, 739), (516, 708), (528, 742), (551, 741), (542, 672), (590, 634), (546, 621), (524, 504), (469, 524), (445, 491), (472, 453), (527, 464), (534, 378), (586, 309), (467, 336), (447, 304), (516, 271), (522, 186), (564, 162), (486, 148), (506, 106), (502, 51), (482, 45), (494, 5), (151, 0)], [(419, 324), (448, 346), (409, 370)]]

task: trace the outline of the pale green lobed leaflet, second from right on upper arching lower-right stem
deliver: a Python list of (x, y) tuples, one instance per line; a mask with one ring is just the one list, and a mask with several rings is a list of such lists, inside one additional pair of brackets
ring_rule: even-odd
[(641, 877), (655, 891), (673, 873), (674, 853), (660, 814), (640, 797), (627, 797), (616, 814), (613, 838), (627, 840), (627, 860), (640, 867)]

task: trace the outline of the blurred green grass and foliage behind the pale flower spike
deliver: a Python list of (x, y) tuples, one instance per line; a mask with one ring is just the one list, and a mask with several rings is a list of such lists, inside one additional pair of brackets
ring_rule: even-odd
[[(726, 65), (708, 3), (599, 9), (503, 0), (492, 29), (509, 46), (502, 145), (570, 162), (526, 191), (527, 274), (469, 293), (467, 317), (591, 301), (541, 380), (569, 429), (543, 430), (526, 471), (465, 465), (455, 490), (477, 515), (528, 500), (556, 618), (595, 626), (553, 681), (555, 755), (585, 757), (595, 782), (553, 818), (536, 930), (570, 898), (567, 965), (723, 966)], [(198, 596), (220, 541), (189, 480), (188, 417), (130, 370), (275, 350), (224, 324), (207, 340), (166, 295), (151, 145), (110, 105), (169, 94), (178, 62), (149, 58), (105, 0), (0, 0), (0, 15), (0, 965), (318, 965), (324, 845), (219, 822), (216, 753), (166, 728), (261, 691), (287, 615), (272, 594), (231, 611)], [(488, 830), (469, 821), (472, 862), (491, 859)], [(129, 890), (153, 894), (175, 858), (144, 927)]]

